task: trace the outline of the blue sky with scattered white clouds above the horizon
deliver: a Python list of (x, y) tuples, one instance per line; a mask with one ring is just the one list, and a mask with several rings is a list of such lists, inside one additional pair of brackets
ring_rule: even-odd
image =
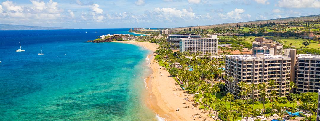
[(0, 0), (0, 23), (171, 28), (320, 14), (320, 0)]

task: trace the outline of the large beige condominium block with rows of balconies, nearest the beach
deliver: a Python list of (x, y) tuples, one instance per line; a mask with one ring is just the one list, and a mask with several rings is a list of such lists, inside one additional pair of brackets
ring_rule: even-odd
[[(236, 99), (239, 96), (241, 88), (237, 85), (239, 82), (246, 84), (268, 84), (268, 80), (275, 80), (278, 85), (274, 89), (267, 89), (267, 94), (275, 90), (279, 96), (287, 96), (289, 88), (286, 86), (290, 80), (294, 80), (295, 62), (294, 49), (285, 49), (284, 55), (263, 54), (256, 55), (227, 55), (226, 56), (226, 75), (233, 77), (232, 81), (226, 81), (226, 89), (234, 94)], [(293, 62), (292, 62), (293, 59)], [(293, 72), (292, 72), (293, 70)], [(254, 90), (253, 98), (259, 99), (259, 90)], [(279, 93), (280, 92), (280, 93)], [(245, 96), (243, 96), (243, 99)], [(252, 94), (246, 96), (252, 99)]]

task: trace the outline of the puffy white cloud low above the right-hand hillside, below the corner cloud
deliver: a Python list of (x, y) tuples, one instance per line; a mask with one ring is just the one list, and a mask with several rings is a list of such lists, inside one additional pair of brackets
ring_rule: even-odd
[(218, 13), (218, 15), (222, 19), (234, 19), (234, 20), (243, 20), (243, 19), (250, 19), (251, 15), (250, 14), (243, 14), (244, 10), (243, 9), (235, 9), (231, 12), (228, 12), (227, 14), (221, 14)]

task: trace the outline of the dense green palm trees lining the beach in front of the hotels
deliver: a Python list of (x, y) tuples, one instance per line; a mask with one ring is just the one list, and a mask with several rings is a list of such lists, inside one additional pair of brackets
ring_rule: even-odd
[[(279, 120), (282, 120), (282, 117), (287, 115), (286, 110), (280, 106), (280, 103), (287, 103), (288, 99), (279, 96), (282, 90), (277, 87), (279, 84), (275, 80), (268, 80), (267, 83), (258, 85), (247, 84), (246, 82), (237, 82), (234, 85), (228, 85), (231, 83), (227, 83), (225, 85), (222, 80), (236, 81), (233, 77), (222, 76), (223, 70), (220, 67), (224, 66), (223, 59), (210, 58), (212, 56), (210, 53), (200, 56), (201, 53), (172, 52), (169, 49), (170, 44), (167, 42), (161, 41), (158, 44), (160, 46), (156, 53), (160, 57), (158, 58), (159, 61), (166, 63), (168, 66), (165, 67), (177, 79), (176, 81), (182, 89), (193, 95), (193, 105), (208, 110), (210, 117), (215, 120), (220, 118), (224, 121), (237, 121), (244, 117), (248, 120), (248, 117), (251, 116), (271, 114), (277, 114), (280, 117)], [(240, 92), (239, 90), (226, 90), (225, 86), (227, 86), (227, 89), (238, 86)], [(296, 88), (293, 82), (286, 86), (289, 88), (289, 92)], [(302, 98), (299, 94), (290, 94), (288, 98), (292, 107), (291, 111), (295, 111), (294, 107), (297, 101), (313, 102), (313, 99), (308, 99), (307, 96)], [(262, 106), (259, 105), (261, 103)], [(316, 108), (311, 108), (314, 106), (309, 105), (311, 103), (306, 102), (308, 106), (303, 104), (304, 102), (300, 104), (301, 109), (316, 110)]]

